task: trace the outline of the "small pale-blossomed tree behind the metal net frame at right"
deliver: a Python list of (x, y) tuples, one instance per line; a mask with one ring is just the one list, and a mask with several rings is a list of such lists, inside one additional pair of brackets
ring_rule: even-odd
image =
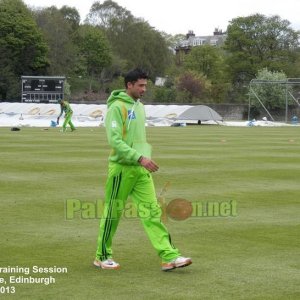
[[(268, 110), (284, 108), (286, 104), (286, 93), (291, 91), (291, 87), (284, 84), (287, 81), (287, 76), (283, 72), (272, 72), (264, 68), (258, 71), (256, 79), (258, 81), (254, 81), (251, 84), (251, 88), (264, 106)], [(261, 107), (257, 99), (254, 103), (254, 106)]]

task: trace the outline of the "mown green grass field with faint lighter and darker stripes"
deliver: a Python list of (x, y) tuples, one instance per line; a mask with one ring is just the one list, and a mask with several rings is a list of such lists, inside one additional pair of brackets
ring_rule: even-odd
[[(114, 239), (119, 271), (92, 266), (99, 219), (74, 212), (103, 199), (109, 148), (103, 128), (0, 128), (0, 268), (65, 267), (33, 274), (55, 283), (10, 284), (9, 299), (300, 299), (299, 127), (148, 128), (157, 193), (166, 201), (236, 203), (237, 216), (167, 220), (188, 268), (160, 271), (140, 221), (123, 217)], [(130, 202), (129, 202), (130, 203)], [(1, 279), (2, 278), (2, 279)], [(2, 284), (1, 284), (2, 280)], [(3, 283), (6, 281), (6, 285)], [(8, 294), (14, 286), (15, 294)], [(5, 293), (4, 293), (5, 292)]]

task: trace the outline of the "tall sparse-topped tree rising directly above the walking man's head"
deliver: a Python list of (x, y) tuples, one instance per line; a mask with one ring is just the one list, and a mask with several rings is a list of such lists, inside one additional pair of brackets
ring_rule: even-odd
[(104, 30), (114, 55), (126, 61), (126, 69), (143, 67), (154, 79), (163, 75), (171, 62), (172, 54), (164, 37), (111, 0), (95, 2), (86, 22)]

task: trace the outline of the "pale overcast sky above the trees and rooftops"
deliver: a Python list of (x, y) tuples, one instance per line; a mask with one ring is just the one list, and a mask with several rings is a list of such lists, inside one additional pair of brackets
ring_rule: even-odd
[[(95, 0), (23, 0), (28, 6), (61, 8), (75, 7), (83, 21)], [(104, 1), (100, 1), (103, 3)], [(134, 17), (143, 18), (156, 30), (168, 34), (210, 35), (215, 28), (226, 30), (228, 22), (236, 17), (261, 13), (270, 17), (279, 15), (290, 21), (294, 30), (300, 30), (300, 0), (115, 0)]]

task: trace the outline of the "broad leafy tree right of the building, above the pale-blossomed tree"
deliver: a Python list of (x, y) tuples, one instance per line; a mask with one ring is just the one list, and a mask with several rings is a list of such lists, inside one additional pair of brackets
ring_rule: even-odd
[(227, 27), (225, 49), (233, 82), (244, 85), (263, 68), (289, 74), (298, 45), (299, 32), (279, 16), (254, 14), (232, 19)]

